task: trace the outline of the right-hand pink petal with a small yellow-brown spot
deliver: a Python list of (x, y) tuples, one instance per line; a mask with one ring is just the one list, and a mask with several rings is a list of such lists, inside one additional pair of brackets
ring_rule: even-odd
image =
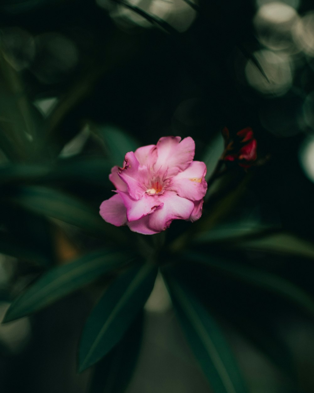
[(205, 174), (204, 162), (193, 161), (183, 172), (172, 178), (170, 189), (183, 198), (200, 200), (204, 198), (207, 190)]

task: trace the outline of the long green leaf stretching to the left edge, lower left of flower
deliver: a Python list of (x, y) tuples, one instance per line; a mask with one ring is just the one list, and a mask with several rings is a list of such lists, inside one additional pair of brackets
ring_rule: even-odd
[(128, 261), (130, 255), (127, 253), (100, 250), (83, 255), (64, 266), (53, 268), (13, 301), (5, 314), (4, 322), (43, 309)]

